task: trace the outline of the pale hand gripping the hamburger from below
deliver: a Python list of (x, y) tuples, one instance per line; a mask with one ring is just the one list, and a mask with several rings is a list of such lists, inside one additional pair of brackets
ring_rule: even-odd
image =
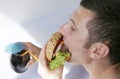
[(46, 45), (42, 48), (39, 55), (38, 73), (43, 79), (62, 79), (63, 67), (57, 70), (49, 70), (45, 55)]

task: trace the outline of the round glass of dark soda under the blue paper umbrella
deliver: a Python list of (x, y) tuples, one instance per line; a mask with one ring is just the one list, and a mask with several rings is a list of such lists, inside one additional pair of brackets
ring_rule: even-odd
[(16, 54), (11, 54), (11, 67), (17, 73), (23, 73), (28, 70), (26, 64), (30, 60), (30, 54), (27, 53), (24, 56), (21, 56), (21, 54), (23, 54), (24, 52), (26, 52), (26, 50), (22, 50), (21, 52), (18, 52)]

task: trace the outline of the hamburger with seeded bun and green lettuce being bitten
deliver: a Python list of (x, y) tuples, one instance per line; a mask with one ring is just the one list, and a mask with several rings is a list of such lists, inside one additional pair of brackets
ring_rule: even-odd
[(70, 59), (71, 53), (63, 42), (63, 35), (56, 32), (48, 40), (46, 46), (46, 58), (50, 70), (57, 69)]

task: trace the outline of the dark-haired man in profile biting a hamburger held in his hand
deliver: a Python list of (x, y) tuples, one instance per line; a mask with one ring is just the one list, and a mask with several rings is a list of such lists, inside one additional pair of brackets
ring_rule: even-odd
[[(59, 29), (72, 53), (69, 62), (83, 65), (89, 79), (120, 79), (120, 1), (82, 0), (80, 4)], [(38, 72), (43, 79), (62, 79), (62, 68), (48, 69), (45, 47)]]

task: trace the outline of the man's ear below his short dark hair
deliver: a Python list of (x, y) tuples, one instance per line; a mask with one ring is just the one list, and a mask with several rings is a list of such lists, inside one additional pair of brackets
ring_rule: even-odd
[(90, 57), (92, 59), (101, 59), (108, 55), (109, 47), (104, 43), (95, 43), (90, 47)]

